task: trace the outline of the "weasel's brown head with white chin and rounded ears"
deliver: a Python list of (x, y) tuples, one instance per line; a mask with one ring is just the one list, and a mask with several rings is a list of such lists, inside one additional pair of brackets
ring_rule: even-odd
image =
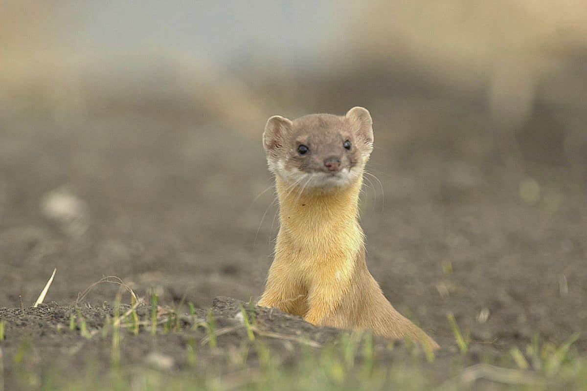
[(263, 147), (269, 171), (288, 185), (331, 191), (362, 175), (373, 150), (373, 121), (363, 107), (293, 121), (274, 115), (265, 125)]

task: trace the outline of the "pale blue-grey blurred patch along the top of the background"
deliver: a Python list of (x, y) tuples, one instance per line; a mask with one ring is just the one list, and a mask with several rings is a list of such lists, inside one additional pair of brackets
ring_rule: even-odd
[(279, 63), (313, 65), (325, 60), (325, 51), (340, 45), (352, 9), (333, 0), (104, 4), (77, 2), (70, 11), (58, 13), (62, 42), (78, 53), (96, 56), (172, 47), (221, 62), (258, 55)]

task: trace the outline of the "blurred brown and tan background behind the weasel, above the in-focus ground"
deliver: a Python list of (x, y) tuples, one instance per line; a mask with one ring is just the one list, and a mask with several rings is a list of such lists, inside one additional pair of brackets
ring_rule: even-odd
[(103, 274), (202, 307), (258, 295), (278, 226), (266, 118), (353, 106), (382, 182), (362, 199), (369, 264), (400, 309), (444, 324), (495, 286), (538, 303), (585, 277), (586, 2), (0, 8), (0, 305), (54, 266), (59, 302)]

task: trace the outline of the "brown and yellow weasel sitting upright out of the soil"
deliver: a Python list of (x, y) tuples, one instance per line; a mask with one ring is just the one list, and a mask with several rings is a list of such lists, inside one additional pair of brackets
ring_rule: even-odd
[(373, 150), (369, 111), (269, 118), (263, 147), (279, 199), (275, 257), (258, 305), (314, 325), (370, 329), (437, 349), (384, 297), (365, 260), (359, 192)]

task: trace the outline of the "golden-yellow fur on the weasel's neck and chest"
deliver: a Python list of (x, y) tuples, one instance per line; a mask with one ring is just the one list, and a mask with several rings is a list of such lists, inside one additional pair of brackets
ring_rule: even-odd
[(303, 284), (349, 281), (363, 246), (357, 221), (360, 181), (329, 193), (285, 195), (279, 179), (281, 228), (275, 261)]

